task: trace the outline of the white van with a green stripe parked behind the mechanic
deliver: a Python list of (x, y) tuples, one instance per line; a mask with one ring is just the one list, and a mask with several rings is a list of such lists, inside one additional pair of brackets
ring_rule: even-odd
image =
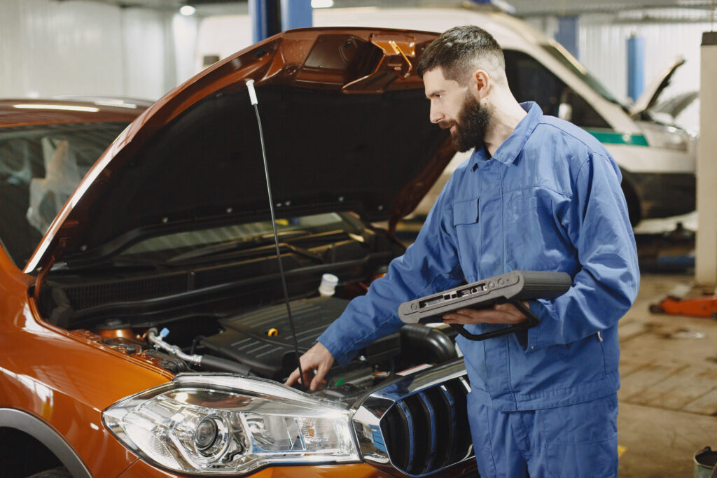
[[(212, 19), (207, 19), (212, 20)], [(199, 31), (200, 54), (222, 54), (212, 37), (231, 25), (237, 35), (250, 32), (247, 16), (217, 19)], [(505, 52), (508, 83), (518, 101), (532, 100), (543, 112), (571, 120), (597, 137), (622, 169), (622, 188), (630, 221), (677, 216), (695, 209), (694, 135), (669, 122), (659, 123), (650, 107), (668, 85), (680, 61), (670, 65), (632, 107), (622, 105), (561, 45), (526, 22), (493, 7), (384, 9), (317, 9), (315, 27), (391, 27), (444, 32), (457, 25), (475, 24), (498, 40)], [(239, 38), (235, 41), (241, 42)], [(250, 44), (250, 38), (246, 39)], [(222, 37), (224, 45), (227, 37)], [(663, 118), (664, 115), (660, 115)], [(415, 214), (427, 214), (440, 189), (470, 153), (459, 153), (446, 168)]]

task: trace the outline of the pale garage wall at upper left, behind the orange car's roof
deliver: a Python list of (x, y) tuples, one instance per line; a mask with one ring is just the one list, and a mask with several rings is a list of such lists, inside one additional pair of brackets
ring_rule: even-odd
[(196, 19), (176, 19), (174, 11), (79, 0), (1, 3), (0, 97), (152, 100), (194, 71)]

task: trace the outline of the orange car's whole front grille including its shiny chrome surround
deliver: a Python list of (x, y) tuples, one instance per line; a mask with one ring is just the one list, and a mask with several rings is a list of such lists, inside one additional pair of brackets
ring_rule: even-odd
[(402, 477), (472, 466), (465, 376), (459, 359), (397, 378), (359, 401), (353, 428), (364, 460)]

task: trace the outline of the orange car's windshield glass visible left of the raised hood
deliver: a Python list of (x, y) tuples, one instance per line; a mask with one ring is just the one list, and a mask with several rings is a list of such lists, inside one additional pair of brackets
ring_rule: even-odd
[(0, 242), (22, 266), (80, 179), (128, 123), (0, 128)]

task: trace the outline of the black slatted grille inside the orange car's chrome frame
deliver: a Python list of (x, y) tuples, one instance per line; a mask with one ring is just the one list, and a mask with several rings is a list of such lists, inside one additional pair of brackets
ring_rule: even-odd
[(397, 401), (381, 419), (394, 467), (411, 475), (436, 472), (473, 454), (462, 378)]

